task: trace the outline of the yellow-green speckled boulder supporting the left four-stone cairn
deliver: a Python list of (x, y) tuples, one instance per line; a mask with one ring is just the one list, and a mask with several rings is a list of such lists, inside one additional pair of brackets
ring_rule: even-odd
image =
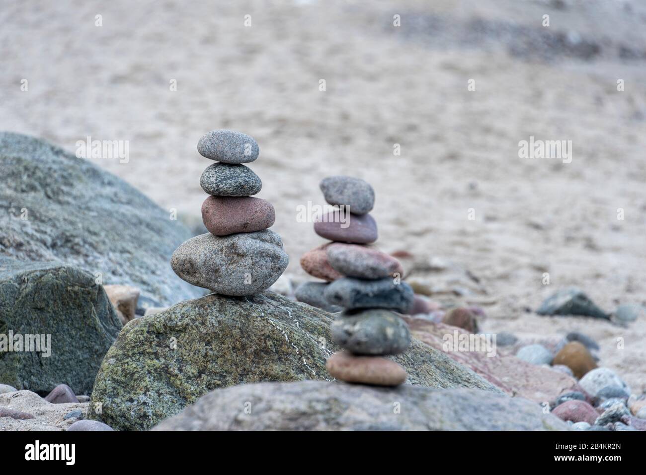
[[(273, 292), (211, 294), (127, 323), (106, 354), (90, 418), (114, 429), (149, 429), (219, 387), (332, 379), (332, 316)], [(420, 341), (395, 358), (408, 383), (436, 388), (494, 385)], [(96, 405), (96, 403), (100, 403)]]

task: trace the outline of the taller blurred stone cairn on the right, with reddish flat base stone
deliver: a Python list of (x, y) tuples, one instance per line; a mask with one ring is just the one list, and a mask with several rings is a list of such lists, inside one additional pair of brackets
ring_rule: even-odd
[(406, 371), (380, 357), (410, 345), (408, 325), (395, 312), (410, 312), (413, 289), (401, 281), (397, 259), (369, 246), (377, 241), (377, 223), (368, 214), (375, 192), (366, 181), (346, 176), (325, 178), (320, 188), (338, 208), (319, 217), (314, 230), (333, 242), (307, 252), (300, 263), (328, 283), (303, 284), (297, 299), (328, 311), (344, 309), (331, 325), (335, 343), (344, 350), (328, 359), (329, 374), (348, 383), (400, 385)]

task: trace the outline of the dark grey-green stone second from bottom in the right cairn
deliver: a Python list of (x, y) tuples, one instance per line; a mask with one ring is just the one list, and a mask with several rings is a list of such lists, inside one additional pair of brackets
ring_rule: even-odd
[(343, 312), (333, 321), (332, 338), (353, 354), (399, 354), (410, 345), (408, 325), (389, 310), (372, 308), (362, 312)]

